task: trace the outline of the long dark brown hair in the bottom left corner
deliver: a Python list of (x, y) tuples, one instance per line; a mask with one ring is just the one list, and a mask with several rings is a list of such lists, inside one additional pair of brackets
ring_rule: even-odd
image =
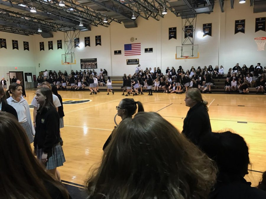
[(25, 130), (7, 112), (0, 112), (0, 154), (0, 198), (50, 199), (45, 184), (55, 186), (64, 198), (69, 198), (64, 186), (33, 156)]

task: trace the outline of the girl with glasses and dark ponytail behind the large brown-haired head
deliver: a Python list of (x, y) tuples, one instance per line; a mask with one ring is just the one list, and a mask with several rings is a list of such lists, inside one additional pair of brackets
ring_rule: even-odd
[[(134, 99), (132, 98), (122, 99), (119, 105), (116, 106), (117, 115), (121, 117), (122, 121), (126, 118), (132, 118), (132, 116), (136, 113), (137, 109), (138, 113), (144, 111), (142, 103), (140, 101), (134, 101)], [(103, 145), (103, 150), (111, 142), (111, 139), (112, 139), (112, 134), (108, 137), (105, 144)]]

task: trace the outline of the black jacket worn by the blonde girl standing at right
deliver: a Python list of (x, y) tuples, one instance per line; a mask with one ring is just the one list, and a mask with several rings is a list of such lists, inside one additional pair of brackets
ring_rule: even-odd
[(200, 139), (210, 132), (212, 132), (212, 128), (209, 114), (206, 107), (199, 102), (187, 112), (182, 133), (184, 133), (191, 142), (197, 145)]

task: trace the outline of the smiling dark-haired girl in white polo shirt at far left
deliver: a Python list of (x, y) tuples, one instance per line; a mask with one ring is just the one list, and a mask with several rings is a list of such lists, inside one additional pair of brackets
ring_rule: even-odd
[[(10, 96), (12, 94), (12, 96)], [(15, 108), (17, 111), (18, 121), (25, 130), (29, 142), (33, 142), (33, 135), (35, 135), (35, 130), (31, 121), (30, 117), (30, 107), (22, 97), (22, 87), (18, 83), (12, 83), (9, 85), (9, 89), (6, 92), (7, 97), (7, 104)]]

